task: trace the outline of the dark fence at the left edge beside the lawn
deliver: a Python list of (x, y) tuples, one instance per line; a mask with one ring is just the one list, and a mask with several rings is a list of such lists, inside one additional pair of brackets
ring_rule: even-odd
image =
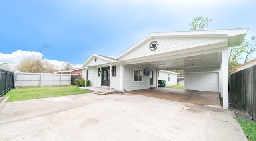
[(14, 73), (0, 69), (0, 96), (6, 95), (14, 87)]

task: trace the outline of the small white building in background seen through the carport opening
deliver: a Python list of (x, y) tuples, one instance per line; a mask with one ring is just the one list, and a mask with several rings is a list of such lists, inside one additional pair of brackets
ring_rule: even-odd
[(177, 74), (172, 71), (159, 70), (158, 71), (158, 80), (165, 80), (165, 85), (177, 85)]

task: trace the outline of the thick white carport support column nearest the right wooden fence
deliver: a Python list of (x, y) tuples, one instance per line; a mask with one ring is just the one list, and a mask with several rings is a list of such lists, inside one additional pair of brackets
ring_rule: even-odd
[(222, 96), (223, 109), (228, 109), (228, 50), (222, 51)]

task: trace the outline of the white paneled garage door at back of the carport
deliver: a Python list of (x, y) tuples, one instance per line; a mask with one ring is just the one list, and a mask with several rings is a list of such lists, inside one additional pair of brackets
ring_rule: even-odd
[(218, 73), (187, 73), (187, 89), (219, 91)]

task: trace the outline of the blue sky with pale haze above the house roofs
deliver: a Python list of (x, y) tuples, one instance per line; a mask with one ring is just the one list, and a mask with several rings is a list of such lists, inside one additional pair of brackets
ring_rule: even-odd
[(48, 43), (42, 54), (49, 60), (116, 57), (151, 32), (189, 30), (196, 16), (214, 19), (208, 30), (249, 28), (249, 40), (256, 36), (255, 6), (256, 0), (1, 0), (0, 58)]

